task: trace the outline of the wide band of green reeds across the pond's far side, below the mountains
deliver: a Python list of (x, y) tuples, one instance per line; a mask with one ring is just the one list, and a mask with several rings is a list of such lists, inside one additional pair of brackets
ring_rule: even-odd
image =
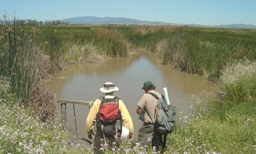
[[(256, 31), (253, 29), (52, 26), (41, 27), (39, 31), (41, 40), (45, 42), (51, 40), (53, 31), (56, 31), (58, 38), (64, 44), (62, 46), (64, 53), (70, 53), (67, 51), (70, 51), (71, 44), (93, 46), (98, 54), (111, 57), (126, 57), (133, 48), (145, 48), (155, 52), (162, 59), (163, 64), (175, 66), (188, 73), (204, 75), (209, 80), (218, 79), (221, 74), (220, 70), (232, 60), (239, 60), (243, 57), (256, 60), (256, 54), (254, 54)], [(79, 55), (70, 55), (64, 59), (79, 61)]]

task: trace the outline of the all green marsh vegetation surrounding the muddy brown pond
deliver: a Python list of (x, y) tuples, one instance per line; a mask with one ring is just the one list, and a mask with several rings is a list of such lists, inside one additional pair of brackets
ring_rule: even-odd
[[(191, 97), (191, 113), (184, 115), (183, 125), (168, 136), (163, 153), (250, 154), (256, 151), (255, 30), (169, 26), (32, 27), (6, 20), (0, 25), (0, 41), (0, 74), (8, 77), (0, 80), (1, 87), (8, 87), (0, 91), (0, 113), (1, 117), (5, 116), (0, 121), (3, 153), (15, 152), (14, 149), (28, 153), (28, 147), (43, 151), (41, 153), (81, 152), (64, 145), (67, 134), (62, 132), (63, 126), (53, 110), (54, 95), (41, 83), (54, 71), (65, 69), (67, 63), (128, 57), (133, 49), (141, 48), (155, 52), (165, 65), (208, 77), (222, 91), (222, 97), (213, 94)], [(15, 109), (6, 112), (6, 108)], [(15, 117), (20, 115), (18, 111), (27, 111), (31, 119)], [(17, 121), (19, 118), (29, 119), (31, 123), (40, 121), (49, 131), (42, 126), (38, 128), (44, 130), (42, 138), (35, 136), (34, 125), (17, 126), (21, 123)], [(20, 129), (14, 130), (17, 127)], [(26, 137), (6, 135), (23, 132), (22, 129), (28, 133)], [(55, 145), (61, 148), (57, 150)], [(124, 143), (114, 150), (106, 148), (106, 153), (154, 153), (139, 146)]]

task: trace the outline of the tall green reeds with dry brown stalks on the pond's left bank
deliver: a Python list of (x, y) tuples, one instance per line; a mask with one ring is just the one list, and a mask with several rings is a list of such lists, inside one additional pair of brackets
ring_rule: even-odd
[(0, 75), (9, 78), (20, 106), (34, 109), (35, 115), (44, 114), (40, 119), (47, 122), (55, 116), (54, 94), (41, 82), (52, 72), (52, 62), (35, 41), (37, 31), (15, 20), (0, 25)]

